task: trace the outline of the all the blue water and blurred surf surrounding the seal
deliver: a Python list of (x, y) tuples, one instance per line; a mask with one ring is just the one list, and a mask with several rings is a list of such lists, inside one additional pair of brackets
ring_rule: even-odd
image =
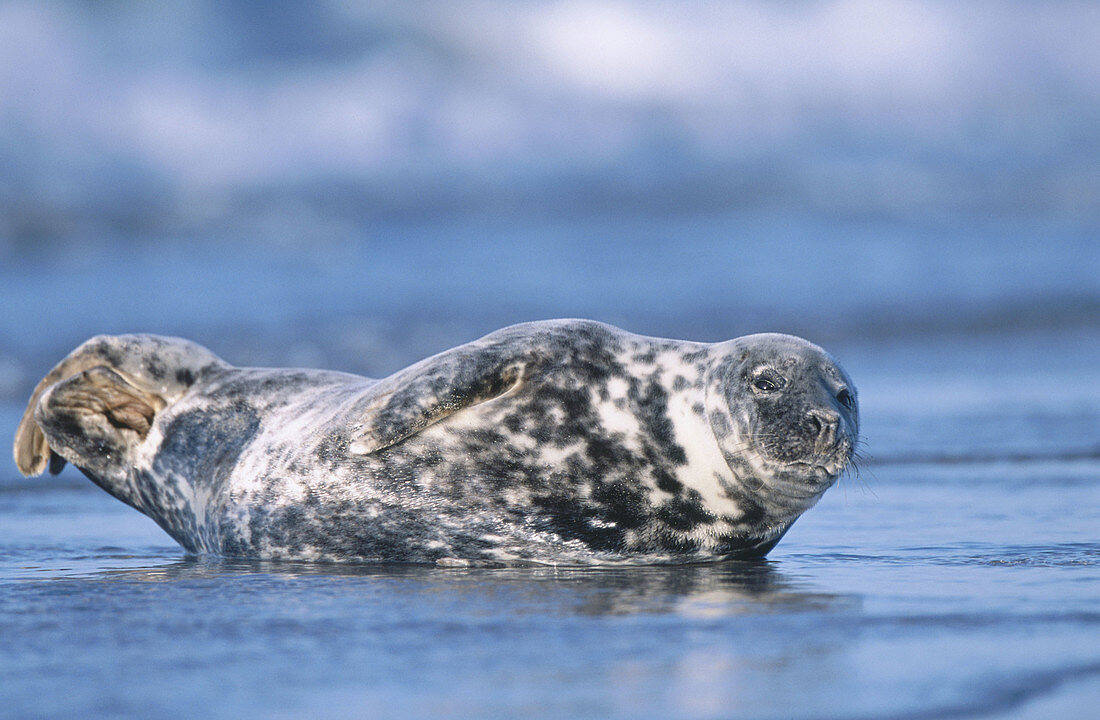
[(190, 558), (0, 465), (0, 717), (1096, 713), (1100, 11), (685, 8), (0, 2), (0, 439), (101, 332), (590, 317), (824, 345), (865, 456), (766, 561), (583, 571)]

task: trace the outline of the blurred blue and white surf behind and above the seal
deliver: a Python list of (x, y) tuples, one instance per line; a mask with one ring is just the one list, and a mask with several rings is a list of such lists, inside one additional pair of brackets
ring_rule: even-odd
[(1098, 230), (1096, 3), (0, 2), (4, 403), (100, 332), (1038, 358), (1096, 343)]

